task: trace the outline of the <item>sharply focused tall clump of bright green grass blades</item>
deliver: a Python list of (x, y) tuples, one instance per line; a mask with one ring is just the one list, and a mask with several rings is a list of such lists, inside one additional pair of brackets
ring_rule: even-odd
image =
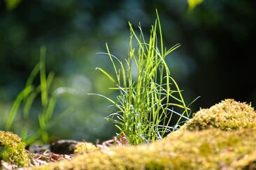
[[(175, 127), (170, 127), (173, 114), (179, 116), (176, 127), (181, 123), (181, 119), (190, 117), (190, 109), (185, 104), (183, 95), (178, 84), (170, 76), (170, 70), (165, 58), (173, 50), (180, 47), (175, 45), (170, 49), (164, 48), (162, 29), (159, 15), (155, 20), (155, 25), (150, 31), (149, 42), (145, 41), (143, 31), (139, 36), (135, 33), (131, 23), (129, 52), (125, 61), (120, 61), (113, 56), (106, 44), (107, 53), (115, 77), (102, 68), (97, 68), (108, 77), (116, 86), (111, 88), (118, 90), (120, 94), (117, 101), (104, 95), (118, 111), (110, 114), (106, 120), (116, 123), (120, 134), (125, 134), (130, 144), (141, 144), (145, 142), (162, 139), (164, 135), (171, 132)], [(159, 40), (157, 39), (157, 33)], [(133, 42), (136, 40), (137, 47)], [(134, 68), (135, 65), (135, 68)], [(132, 72), (137, 71), (137, 77)], [(182, 110), (179, 114), (177, 110)]]

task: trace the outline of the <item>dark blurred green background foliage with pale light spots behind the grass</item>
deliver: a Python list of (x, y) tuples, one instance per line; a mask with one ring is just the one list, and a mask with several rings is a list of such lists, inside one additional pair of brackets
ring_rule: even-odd
[[(256, 103), (253, 0), (207, 0), (192, 11), (187, 10), (187, 1), (180, 0), (20, 1), (12, 10), (6, 8), (12, 6), (6, 2), (0, 1), (1, 129), (15, 97), (39, 61), (40, 47), (45, 45), (46, 74), (55, 72), (52, 89), (64, 86), (79, 91), (58, 98), (54, 116), (71, 105), (76, 111), (50, 128), (50, 139), (102, 141), (115, 135), (111, 123), (104, 121), (113, 108), (105, 100), (87, 95), (101, 93), (115, 98), (106, 89), (110, 86), (107, 77), (94, 71), (101, 67), (111, 72), (111, 63), (96, 53), (106, 52), (108, 42), (115, 56), (127, 56), (128, 21), (133, 25), (141, 22), (147, 32), (155, 20), (155, 8), (162, 20), (166, 46), (181, 44), (166, 58), (171, 76), (185, 90), (185, 101), (201, 95), (192, 111), (224, 98)], [(40, 78), (34, 81), (38, 85)], [(31, 130), (38, 124), (38, 105), (40, 98), (35, 99), (31, 120), (26, 122)], [(23, 120), (18, 115), (11, 130), (19, 134)]]

